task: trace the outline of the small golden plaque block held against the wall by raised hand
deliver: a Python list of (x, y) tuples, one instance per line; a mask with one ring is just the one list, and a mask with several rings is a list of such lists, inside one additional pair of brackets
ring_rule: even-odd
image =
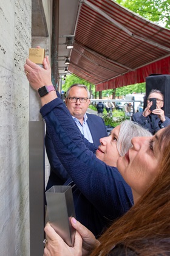
[(45, 58), (45, 49), (42, 48), (30, 48), (29, 59), (38, 65), (42, 65), (42, 61)]

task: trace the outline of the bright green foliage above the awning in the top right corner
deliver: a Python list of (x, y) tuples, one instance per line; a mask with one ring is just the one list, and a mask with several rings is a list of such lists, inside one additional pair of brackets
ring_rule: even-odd
[(115, 2), (170, 29), (169, 0), (115, 0)]

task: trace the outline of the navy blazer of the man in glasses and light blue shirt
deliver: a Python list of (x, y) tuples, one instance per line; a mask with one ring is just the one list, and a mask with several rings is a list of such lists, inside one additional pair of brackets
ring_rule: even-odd
[[(100, 116), (88, 114), (88, 113), (87, 113), (87, 124), (89, 126), (90, 133), (94, 140), (94, 148), (91, 145), (92, 147), (91, 150), (95, 151), (95, 149), (97, 149), (98, 146), (100, 145), (100, 141), (99, 141), (100, 138), (107, 136), (106, 126), (104, 124), (103, 119)], [(75, 126), (77, 127), (76, 124)], [(85, 144), (89, 148), (90, 144), (92, 143), (88, 144), (86, 139), (84, 139), (84, 141), (86, 141)], [(49, 163), (50, 163), (50, 176), (46, 186), (46, 191), (47, 191), (52, 186), (63, 185), (67, 181), (67, 179), (69, 179), (70, 176), (67, 173), (64, 166), (61, 164), (60, 160), (58, 159), (55, 153), (55, 149), (53, 147), (53, 143), (50, 138), (48, 130), (46, 130), (45, 145), (46, 145), (47, 157), (49, 158)]]

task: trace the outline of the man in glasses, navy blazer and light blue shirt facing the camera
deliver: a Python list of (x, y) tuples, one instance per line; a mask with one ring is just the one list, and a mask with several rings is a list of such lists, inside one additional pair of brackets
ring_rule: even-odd
[[(90, 92), (86, 85), (73, 84), (66, 92), (66, 106), (84, 137), (95, 145), (100, 145), (100, 138), (107, 136), (106, 126), (100, 116), (86, 113), (90, 104)], [(69, 178), (64, 166), (55, 154), (52, 140), (46, 132), (46, 152), (50, 163), (50, 176), (46, 191), (54, 185), (63, 185)]]

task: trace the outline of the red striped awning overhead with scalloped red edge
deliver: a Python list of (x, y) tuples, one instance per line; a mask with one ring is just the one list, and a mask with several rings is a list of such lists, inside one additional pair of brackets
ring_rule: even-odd
[[(80, 5), (70, 73), (95, 84), (97, 91), (144, 82), (149, 73), (170, 73), (169, 66), (165, 71), (154, 64), (165, 58), (170, 62), (169, 29), (112, 0), (84, 0)], [(144, 73), (143, 79), (137, 70)], [(123, 79), (127, 74), (131, 79)]]

